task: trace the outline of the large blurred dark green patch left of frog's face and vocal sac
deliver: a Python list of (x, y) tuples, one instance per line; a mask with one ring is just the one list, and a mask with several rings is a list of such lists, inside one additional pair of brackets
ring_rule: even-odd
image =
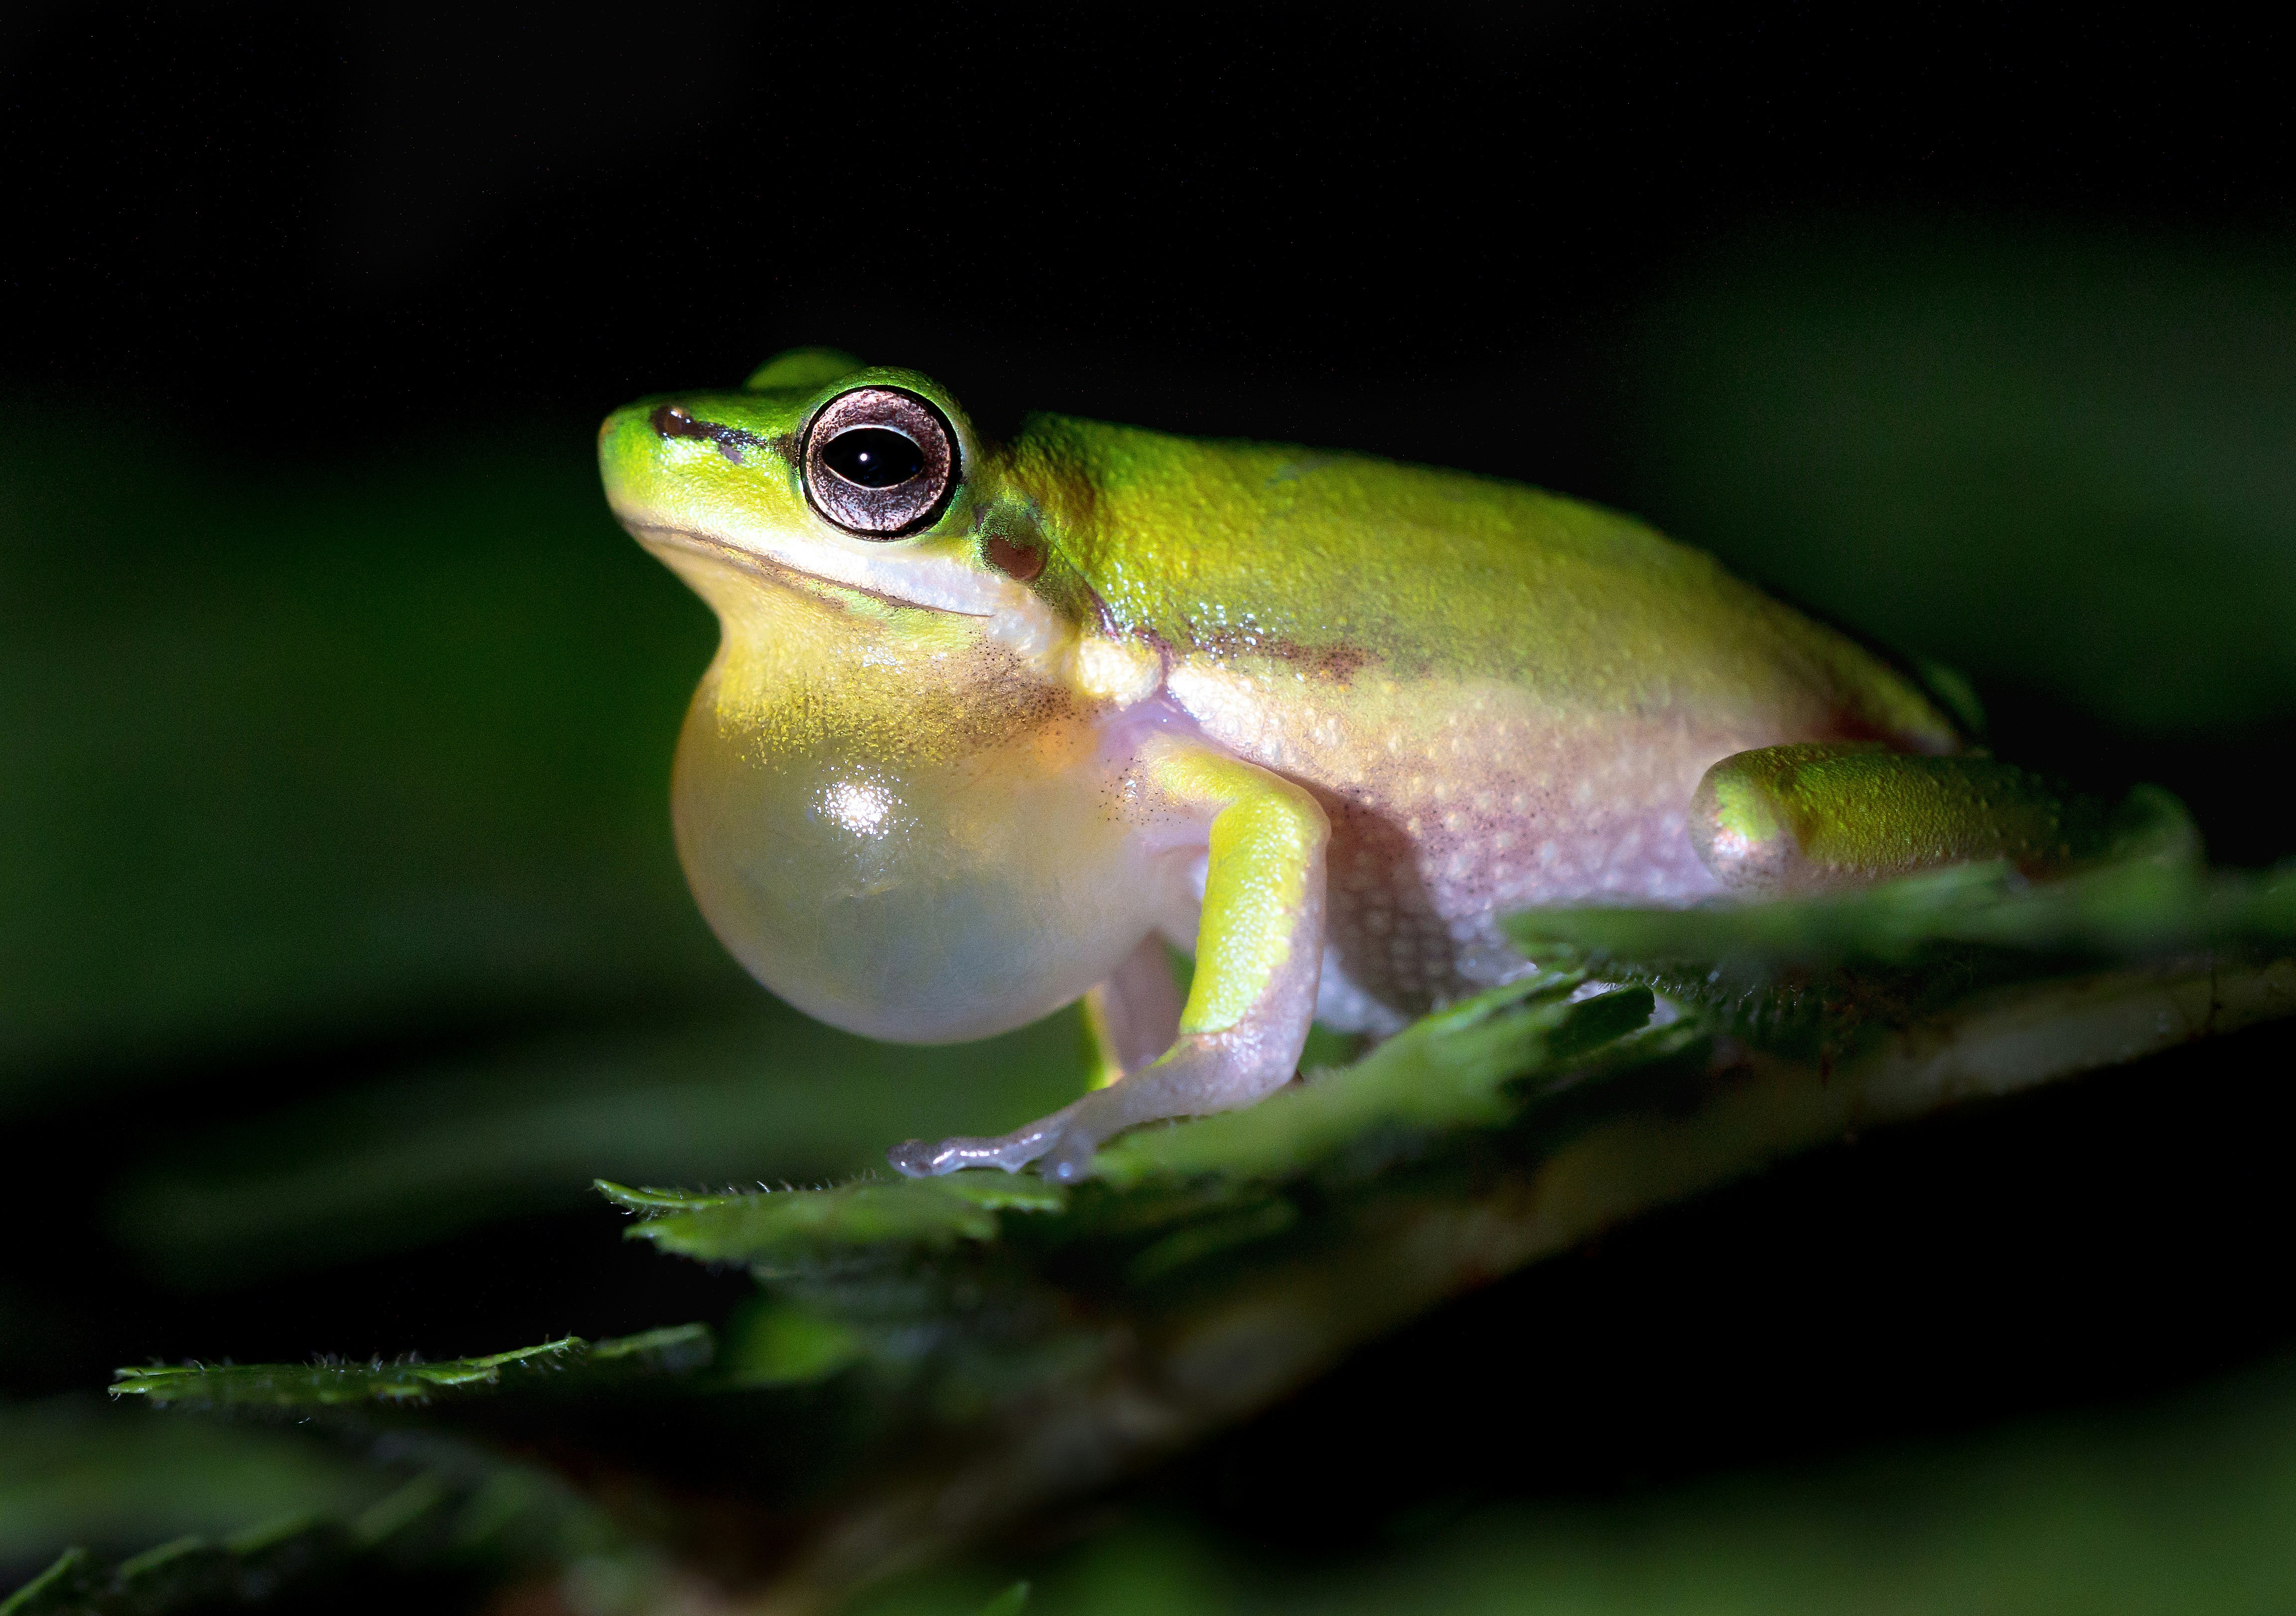
[(57, 409), (0, 441), (0, 1113), (90, 1067), (746, 992), (664, 836), (709, 617), (581, 434), (308, 482)]

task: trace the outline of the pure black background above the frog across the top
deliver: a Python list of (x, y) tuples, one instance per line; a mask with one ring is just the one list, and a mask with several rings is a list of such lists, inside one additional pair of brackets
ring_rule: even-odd
[(1603, 344), (1681, 262), (2285, 223), (2282, 67), (2188, 9), (34, 7), (5, 374), (328, 454), (836, 342), (1626, 500)]

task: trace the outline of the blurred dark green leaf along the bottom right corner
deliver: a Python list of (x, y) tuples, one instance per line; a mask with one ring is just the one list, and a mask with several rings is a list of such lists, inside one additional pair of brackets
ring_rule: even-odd
[[(2133, 1407), (1486, 1506), (1313, 1561), (1134, 1510), (1029, 1577), (1065, 1616), (2278, 1616), (2291, 1540), (2280, 1361)], [(1006, 1575), (921, 1577), (852, 1616), (941, 1616)]]

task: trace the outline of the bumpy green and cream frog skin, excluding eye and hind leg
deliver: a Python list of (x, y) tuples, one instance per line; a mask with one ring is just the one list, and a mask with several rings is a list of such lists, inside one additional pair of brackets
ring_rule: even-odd
[[(856, 386), (957, 436), (916, 535), (806, 498), (806, 425)], [(1956, 748), (1915, 686), (1706, 556), (1488, 477), (1054, 415), (992, 445), (930, 379), (824, 354), (618, 411), (599, 459), (723, 622), (673, 797), (728, 948), (879, 1038), (1109, 985), (1125, 1065), (1169, 1044), (905, 1171), (1086, 1171), (1116, 1127), (1286, 1081), (1318, 994), (1378, 1033), (1522, 971), (1497, 914), (1722, 891), (1729, 849), (1690, 824), (1724, 758)], [(1155, 937), (1199, 955), (1169, 1033), (1139, 964), (1123, 987)]]

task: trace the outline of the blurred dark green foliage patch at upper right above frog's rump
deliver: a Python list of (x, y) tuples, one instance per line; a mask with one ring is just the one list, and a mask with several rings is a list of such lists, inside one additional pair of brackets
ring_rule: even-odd
[(1979, 686), (2133, 730), (2296, 712), (2282, 241), (1830, 220), (1642, 317), (1667, 530)]

